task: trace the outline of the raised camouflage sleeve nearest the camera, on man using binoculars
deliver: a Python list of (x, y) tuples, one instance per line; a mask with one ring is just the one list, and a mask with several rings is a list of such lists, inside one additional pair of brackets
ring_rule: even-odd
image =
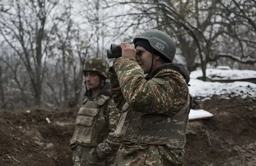
[(163, 69), (147, 81), (133, 56), (119, 57), (113, 66), (122, 94), (134, 111), (172, 116), (185, 103), (187, 84), (179, 72)]

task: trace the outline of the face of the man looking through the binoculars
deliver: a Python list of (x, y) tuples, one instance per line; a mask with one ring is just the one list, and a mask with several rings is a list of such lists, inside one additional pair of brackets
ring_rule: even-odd
[(143, 46), (137, 46), (136, 49), (139, 49), (141, 51), (140, 55), (136, 55), (136, 61), (139, 63), (139, 66), (144, 71), (144, 74), (148, 74), (151, 69), (153, 54), (144, 49)]

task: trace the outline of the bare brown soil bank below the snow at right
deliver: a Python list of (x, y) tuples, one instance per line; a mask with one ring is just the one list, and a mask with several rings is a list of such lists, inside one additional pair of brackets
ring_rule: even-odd
[(213, 119), (191, 121), (186, 166), (256, 166), (256, 98), (206, 100)]

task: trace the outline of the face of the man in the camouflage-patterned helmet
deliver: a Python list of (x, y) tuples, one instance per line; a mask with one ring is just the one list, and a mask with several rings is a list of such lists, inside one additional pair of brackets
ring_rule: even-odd
[(91, 90), (99, 88), (99, 76), (96, 73), (86, 72), (85, 81), (86, 81), (87, 88)]

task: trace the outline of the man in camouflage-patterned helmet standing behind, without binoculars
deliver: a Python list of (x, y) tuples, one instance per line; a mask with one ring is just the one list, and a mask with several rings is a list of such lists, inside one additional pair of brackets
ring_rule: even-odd
[(103, 59), (89, 59), (83, 72), (86, 93), (77, 112), (76, 126), (70, 146), (73, 166), (112, 166), (120, 145), (113, 137), (121, 111), (111, 97), (109, 64)]

